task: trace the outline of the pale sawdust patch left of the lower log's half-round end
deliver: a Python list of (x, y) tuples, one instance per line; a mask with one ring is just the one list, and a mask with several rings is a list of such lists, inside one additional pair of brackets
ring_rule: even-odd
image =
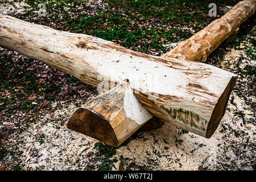
[[(64, 104), (55, 102), (52, 106), (57, 105)], [(24, 168), (57, 170), (76, 168), (75, 163), (82, 152), (81, 149), (84, 148), (83, 153), (88, 153), (97, 142), (96, 139), (67, 129), (68, 118), (78, 108), (75, 104), (63, 106), (53, 114), (46, 114), (38, 123), (20, 134), (24, 141), (24, 144), (19, 144), (19, 149), (24, 151), (22, 162)]]

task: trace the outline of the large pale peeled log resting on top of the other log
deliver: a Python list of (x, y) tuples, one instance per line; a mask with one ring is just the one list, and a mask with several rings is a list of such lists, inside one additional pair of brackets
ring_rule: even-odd
[(236, 80), (233, 73), (212, 65), (146, 55), (6, 15), (0, 15), (0, 46), (93, 86), (128, 79), (139, 102), (153, 115), (207, 138), (224, 115)]

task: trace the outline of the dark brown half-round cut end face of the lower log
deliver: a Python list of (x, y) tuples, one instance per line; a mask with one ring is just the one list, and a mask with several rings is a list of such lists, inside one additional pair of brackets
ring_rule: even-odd
[(76, 110), (68, 121), (68, 129), (118, 147), (118, 140), (110, 123), (88, 109)]

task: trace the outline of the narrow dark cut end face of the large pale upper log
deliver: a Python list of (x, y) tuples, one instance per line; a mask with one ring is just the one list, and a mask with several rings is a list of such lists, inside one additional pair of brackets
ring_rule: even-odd
[(236, 83), (236, 80), (237, 80), (237, 76), (232, 76), (232, 78), (229, 81), (229, 84), (226, 86), (221, 97), (218, 99), (218, 102), (213, 109), (212, 117), (210, 118), (205, 138), (212, 137), (214, 131), (217, 129), (218, 125), (220, 124), (221, 118), (225, 114), (226, 106), (228, 105), (228, 101), (229, 101), (229, 96), (232, 92), (234, 84)]

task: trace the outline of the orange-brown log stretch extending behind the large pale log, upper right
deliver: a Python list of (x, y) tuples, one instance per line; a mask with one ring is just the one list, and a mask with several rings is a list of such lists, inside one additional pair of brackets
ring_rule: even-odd
[(203, 30), (197, 32), (190, 39), (179, 43), (164, 57), (183, 58), (192, 61), (204, 62), (226, 38), (237, 31), (237, 28), (249, 16), (253, 15), (256, 8), (255, 0), (238, 2), (220, 19), (214, 20)]

